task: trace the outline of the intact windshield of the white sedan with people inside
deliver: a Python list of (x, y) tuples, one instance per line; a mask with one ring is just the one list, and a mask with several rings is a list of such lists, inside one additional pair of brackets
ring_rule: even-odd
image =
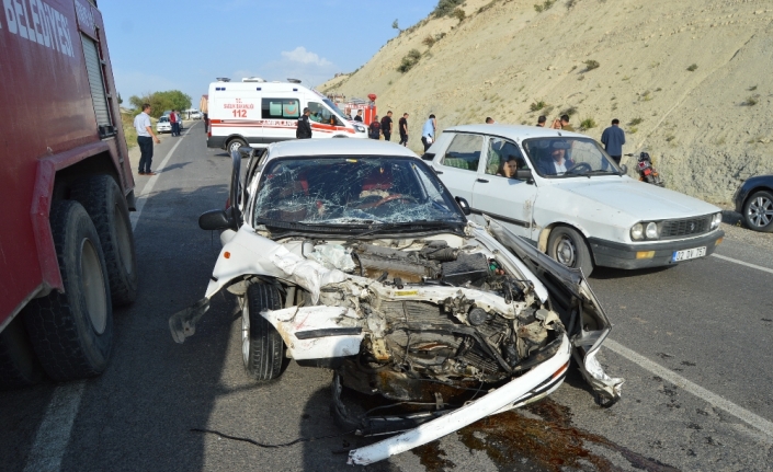
[(523, 149), (543, 177), (576, 177), (619, 174), (606, 152), (590, 138), (535, 138), (523, 142)]

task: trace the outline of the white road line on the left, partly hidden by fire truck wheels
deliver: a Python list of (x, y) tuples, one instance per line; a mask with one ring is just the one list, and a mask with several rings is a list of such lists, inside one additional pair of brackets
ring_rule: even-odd
[[(195, 125), (194, 125), (195, 126)], [(187, 136), (193, 127), (187, 128), (184, 136)], [(161, 161), (158, 170), (162, 170), (174, 151), (180, 146), (182, 139), (174, 143), (169, 153)], [(139, 220), (139, 216), (145, 207), (147, 198), (143, 198), (152, 192), (158, 175), (154, 175), (148, 180), (148, 183), (143, 187), (143, 192), (137, 197), (137, 211), (129, 215), (132, 220), (132, 230), (134, 231)], [(61, 459), (67, 451), (67, 445), (70, 442), (72, 434), (72, 425), (75, 424), (80, 399), (86, 390), (86, 381), (62, 383), (54, 389), (50, 402), (46, 407), (46, 413), (43, 416), (43, 422), (37, 427), (35, 441), (30, 449), (24, 472), (55, 472), (61, 468)]]

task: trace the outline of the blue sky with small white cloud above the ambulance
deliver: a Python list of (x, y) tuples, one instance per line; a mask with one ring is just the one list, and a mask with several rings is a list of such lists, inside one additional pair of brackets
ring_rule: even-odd
[(351, 72), (437, 0), (100, 0), (115, 82), (132, 95), (180, 90), (194, 107), (217, 77)]

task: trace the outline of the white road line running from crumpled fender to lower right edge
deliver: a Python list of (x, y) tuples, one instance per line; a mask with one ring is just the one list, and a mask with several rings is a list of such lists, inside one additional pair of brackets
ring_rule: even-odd
[(661, 379), (668, 380), (669, 382), (675, 384), (685, 392), (692, 393), (693, 395), (697, 396), (701, 400), (704, 400), (705, 402), (716, 406), (717, 408), (726, 411), (727, 413), (731, 414), (732, 416), (737, 417), (749, 426), (752, 426), (753, 428), (757, 428), (768, 435), (770, 438), (773, 438), (773, 423), (769, 422), (762, 416), (759, 416), (741, 406), (738, 406), (737, 404), (717, 395), (716, 393), (709, 392), (703, 387), (691, 382), (690, 380), (675, 373), (674, 371), (649, 360), (640, 354), (628, 349), (627, 347), (610, 339), (609, 337), (604, 339), (604, 347), (612, 350), (613, 353), (625, 357), (626, 359), (638, 365), (645, 370), (657, 375)]

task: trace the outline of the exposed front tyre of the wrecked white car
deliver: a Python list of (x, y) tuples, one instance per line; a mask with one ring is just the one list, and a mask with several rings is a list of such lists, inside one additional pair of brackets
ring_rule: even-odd
[(282, 375), (284, 341), (276, 329), (261, 316), (263, 310), (282, 308), (282, 297), (276, 287), (251, 284), (241, 310), (241, 354), (247, 375), (258, 381), (269, 381)]

